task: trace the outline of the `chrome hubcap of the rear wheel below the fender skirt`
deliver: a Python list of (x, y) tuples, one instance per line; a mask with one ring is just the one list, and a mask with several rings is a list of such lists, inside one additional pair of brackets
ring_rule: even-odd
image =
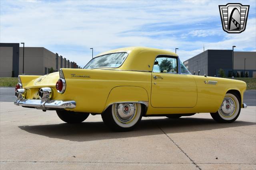
[(135, 117), (136, 105), (134, 103), (117, 103), (115, 115), (121, 123), (127, 123)]

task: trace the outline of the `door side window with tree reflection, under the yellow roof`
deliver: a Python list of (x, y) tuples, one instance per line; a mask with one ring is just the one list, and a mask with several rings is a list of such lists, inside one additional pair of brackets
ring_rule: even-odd
[(160, 55), (156, 57), (153, 72), (155, 73), (178, 73), (177, 58)]

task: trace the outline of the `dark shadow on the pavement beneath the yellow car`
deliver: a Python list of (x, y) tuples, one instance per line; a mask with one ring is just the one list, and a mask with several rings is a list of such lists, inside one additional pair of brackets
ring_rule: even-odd
[[(115, 138), (129, 138), (166, 133), (195, 132), (231, 127), (256, 125), (253, 122), (235, 121), (234, 123), (216, 123), (212, 119), (180, 118), (180, 119), (146, 119), (130, 132), (112, 132), (103, 122), (83, 122), (80, 124), (55, 124), (19, 126), (20, 129), (32, 134), (49, 138), (59, 138), (70, 141), (92, 141)], [(161, 129), (162, 130), (161, 130)]]

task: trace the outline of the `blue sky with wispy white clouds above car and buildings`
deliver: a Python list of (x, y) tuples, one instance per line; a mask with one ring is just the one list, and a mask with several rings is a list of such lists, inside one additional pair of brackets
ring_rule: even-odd
[[(246, 30), (223, 31), (218, 5), (250, 5)], [(0, 0), (0, 42), (45, 47), (79, 66), (120, 47), (175, 52), (182, 61), (207, 49), (256, 51), (256, 0)], [(22, 46), (22, 45), (20, 45)]]

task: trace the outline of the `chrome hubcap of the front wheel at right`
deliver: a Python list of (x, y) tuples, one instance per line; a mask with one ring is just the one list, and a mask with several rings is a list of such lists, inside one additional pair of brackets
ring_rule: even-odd
[(230, 116), (234, 113), (236, 110), (236, 105), (232, 98), (230, 97), (225, 97), (222, 105), (220, 106), (220, 113), (224, 116)]

